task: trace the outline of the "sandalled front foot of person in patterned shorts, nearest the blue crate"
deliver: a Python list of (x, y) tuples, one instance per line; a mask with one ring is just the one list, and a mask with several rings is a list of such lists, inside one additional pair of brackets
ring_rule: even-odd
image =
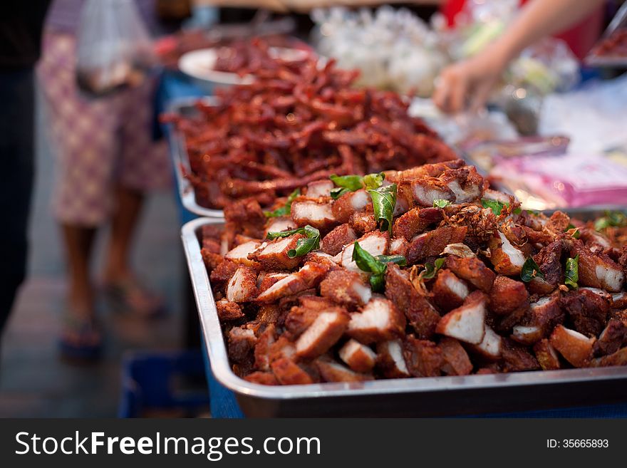
[(103, 336), (98, 322), (93, 318), (78, 317), (76, 313), (66, 313), (64, 322), (59, 339), (61, 358), (84, 363), (99, 360)]

